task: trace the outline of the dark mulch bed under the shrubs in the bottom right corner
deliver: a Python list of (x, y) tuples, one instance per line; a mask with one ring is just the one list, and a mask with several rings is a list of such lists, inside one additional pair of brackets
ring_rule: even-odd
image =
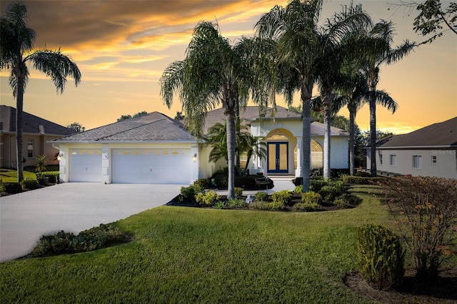
[(361, 295), (381, 303), (457, 303), (457, 268), (442, 270), (436, 280), (418, 280), (415, 270), (406, 270), (401, 285), (377, 290), (360, 273), (349, 273), (344, 283)]

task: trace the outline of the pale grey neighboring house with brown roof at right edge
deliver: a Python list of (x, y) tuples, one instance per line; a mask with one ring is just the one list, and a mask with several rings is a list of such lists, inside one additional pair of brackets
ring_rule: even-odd
[[(366, 163), (370, 169), (371, 153)], [(376, 143), (378, 174), (457, 178), (457, 117)]]

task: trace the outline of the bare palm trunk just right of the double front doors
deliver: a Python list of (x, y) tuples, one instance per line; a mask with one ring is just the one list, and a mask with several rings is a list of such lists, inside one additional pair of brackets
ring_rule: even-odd
[(313, 90), (313, 81), (308, 78), (302, 79), (301, 83), (301, 102), (303, 109), (301, 116), (303, 120), (302, 125), (302, 139), (301, 151), (301, 176), (303, 178), (303, 192), (309, 191), (309, 176), (311, 173), (311, 91)]

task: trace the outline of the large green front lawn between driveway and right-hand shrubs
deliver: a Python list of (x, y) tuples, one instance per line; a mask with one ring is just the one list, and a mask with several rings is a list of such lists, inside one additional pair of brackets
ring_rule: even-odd
[(1, 303), (371, 303), (343, 284), (354, 233), (392, 223), (352, 191), (361, 206), (319, 213), (154, 208), (119, 221), (131, 243), (0, 264)]

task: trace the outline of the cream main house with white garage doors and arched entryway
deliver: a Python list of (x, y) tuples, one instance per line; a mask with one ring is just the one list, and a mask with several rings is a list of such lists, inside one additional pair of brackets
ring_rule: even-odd
[[(270, 112), (259, 119), (258, 107), (241, 110), (241, 118), (251, 133), (268, 145), (268, 158), (253, 158), (251, 173), (301, 176), (301, 115), (278, 107), (275, 118)], [(224, 110), (206, 116), (205, 132), (216, 122), (224, 123)], [(331, 167), (348, 168), (348, 133), (332, 128)], [(311, 124), (313, 168), (323, 166), (323, 125)], [(51, 141), (61, 151), (62, 181), (101, 183), (179, 183), (189, 184), (208, 178), (225, 161), (208, 161), (211, 146), (192, 136), (183, 124), (153, 112), (94, 128)], [(244, 164), (246, 158), (244, 159)]]

